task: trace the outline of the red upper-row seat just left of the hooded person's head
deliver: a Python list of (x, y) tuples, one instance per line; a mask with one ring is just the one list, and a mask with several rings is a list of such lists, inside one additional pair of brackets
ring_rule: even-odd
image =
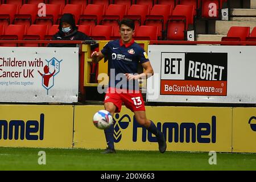
[(61, 5), (46, 4), (46, 16), (37, 16), (35, 24), (47, 24), (48, 26), (56, 24), (61, 9)]

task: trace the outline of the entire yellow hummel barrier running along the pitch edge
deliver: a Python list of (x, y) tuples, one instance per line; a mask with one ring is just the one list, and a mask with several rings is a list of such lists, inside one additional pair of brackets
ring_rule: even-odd
[[(104, 131), (92, 122), (103, 108), (1, 105), (0, 146), (104, 149)], [(146, 113), (166, 136), (167, 151), (256, 152), (256, 108), (146, 106)], [(158, 149), (129, 109), (113, 118), (118, 150)]]

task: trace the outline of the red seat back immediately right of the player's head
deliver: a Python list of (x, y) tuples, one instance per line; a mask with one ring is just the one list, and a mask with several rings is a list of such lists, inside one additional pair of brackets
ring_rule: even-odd
[(141, 26), (137, 28), (135, 40), (158, 40), (158, 27)]

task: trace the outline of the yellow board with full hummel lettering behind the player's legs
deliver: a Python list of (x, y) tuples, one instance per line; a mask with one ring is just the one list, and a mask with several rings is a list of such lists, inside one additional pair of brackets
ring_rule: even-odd
[[(75, 106), (75, 148), (105, 148), (104, 131), (92, 123), (103, 106)], [(186, 114), (184, 114), (186, 113)], [(147, 117), (167, 138), (167, 151), (232, 151), (232, 108), (151, 107)], [(133, 113), (122, 107), (114, 115), (115, 148), (118, 150), (158, 150), (156, 138), (138, 125)]]

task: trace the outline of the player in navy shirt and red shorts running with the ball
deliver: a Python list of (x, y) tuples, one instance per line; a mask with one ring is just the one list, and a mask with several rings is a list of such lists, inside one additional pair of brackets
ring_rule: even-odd
[[(100, 52), (92, 53), (92, 61), (98, 63), (102, 58), (108, 60), (111, 72), (104, 107), (112, 116), (121, 111), (122, 103), (134, 112), (137, 122), (146, 127), (158, 140), (159, 151), (166, 151), (166, 139), (154, 122), (146, 118), (146, 111), (142, 94), (139, 91), (139, 78), (148, 78), (154, 74), (147, 53), (139, 44), (134, 42), (134, 22), (131, 19), (122, 19), (119, 23), (121, 39), (110, 41)], [(137, 73), (138, 64), (144, 72)], [(115, 153), (114, 126), (104, 130), (108, 147), (102, 154)]]

